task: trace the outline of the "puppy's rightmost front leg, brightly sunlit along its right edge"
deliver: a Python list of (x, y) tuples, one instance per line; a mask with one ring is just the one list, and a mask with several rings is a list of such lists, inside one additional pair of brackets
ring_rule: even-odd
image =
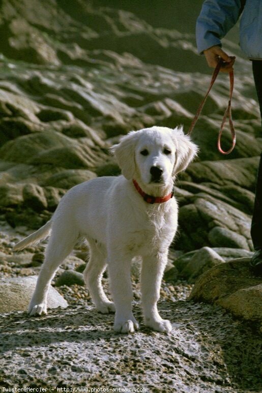
[(157, 302), (160, 297), (160, 286), (167, 263), (167, 252), (156, 252), (143, 257), (141, 270), (141, 298), (144, 324), (158, 332), (169, 333), (172, 326), (163, 320), (158, 313)]

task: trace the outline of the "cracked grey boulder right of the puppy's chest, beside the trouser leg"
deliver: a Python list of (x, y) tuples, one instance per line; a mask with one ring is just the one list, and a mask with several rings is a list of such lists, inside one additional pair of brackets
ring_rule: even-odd
[(203, 244), (253, 249), (250, 215), (214, 196), (205, 193), (188, 196), (187, 205), (179, 210), (179, 224), (181, 231), (174, 247), (180, 250), (192, 251)]

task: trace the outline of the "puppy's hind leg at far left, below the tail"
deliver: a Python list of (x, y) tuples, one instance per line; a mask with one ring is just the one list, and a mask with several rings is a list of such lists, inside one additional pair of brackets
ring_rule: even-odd
[(52, 229), (51, 237), (46, 248), (45, 260), (37, 280), (35, 292), (28, 307), (28, 314), (46, 314), (48, 289), (57, 268), (74, 247), (77, 240), (75, 234), (76, 232), (73, 228), (70, 228), (67, 232), (61, 231), (58, 228)]

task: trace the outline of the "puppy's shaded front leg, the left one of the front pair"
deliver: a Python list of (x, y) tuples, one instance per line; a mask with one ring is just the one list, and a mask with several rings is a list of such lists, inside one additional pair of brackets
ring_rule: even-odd
[(139, 328), (132, 313), (131, 258), (121, 252), (110, 253), (108, 274), (115, 306), (114, 331), (133, 333)]

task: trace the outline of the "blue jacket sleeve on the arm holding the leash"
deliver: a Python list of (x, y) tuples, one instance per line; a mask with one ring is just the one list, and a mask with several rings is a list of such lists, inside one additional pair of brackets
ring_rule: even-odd
[(242, 8), (241, 0), (206, 0), (196, 21), (198, 53), (214, 45), (237, 23)]

